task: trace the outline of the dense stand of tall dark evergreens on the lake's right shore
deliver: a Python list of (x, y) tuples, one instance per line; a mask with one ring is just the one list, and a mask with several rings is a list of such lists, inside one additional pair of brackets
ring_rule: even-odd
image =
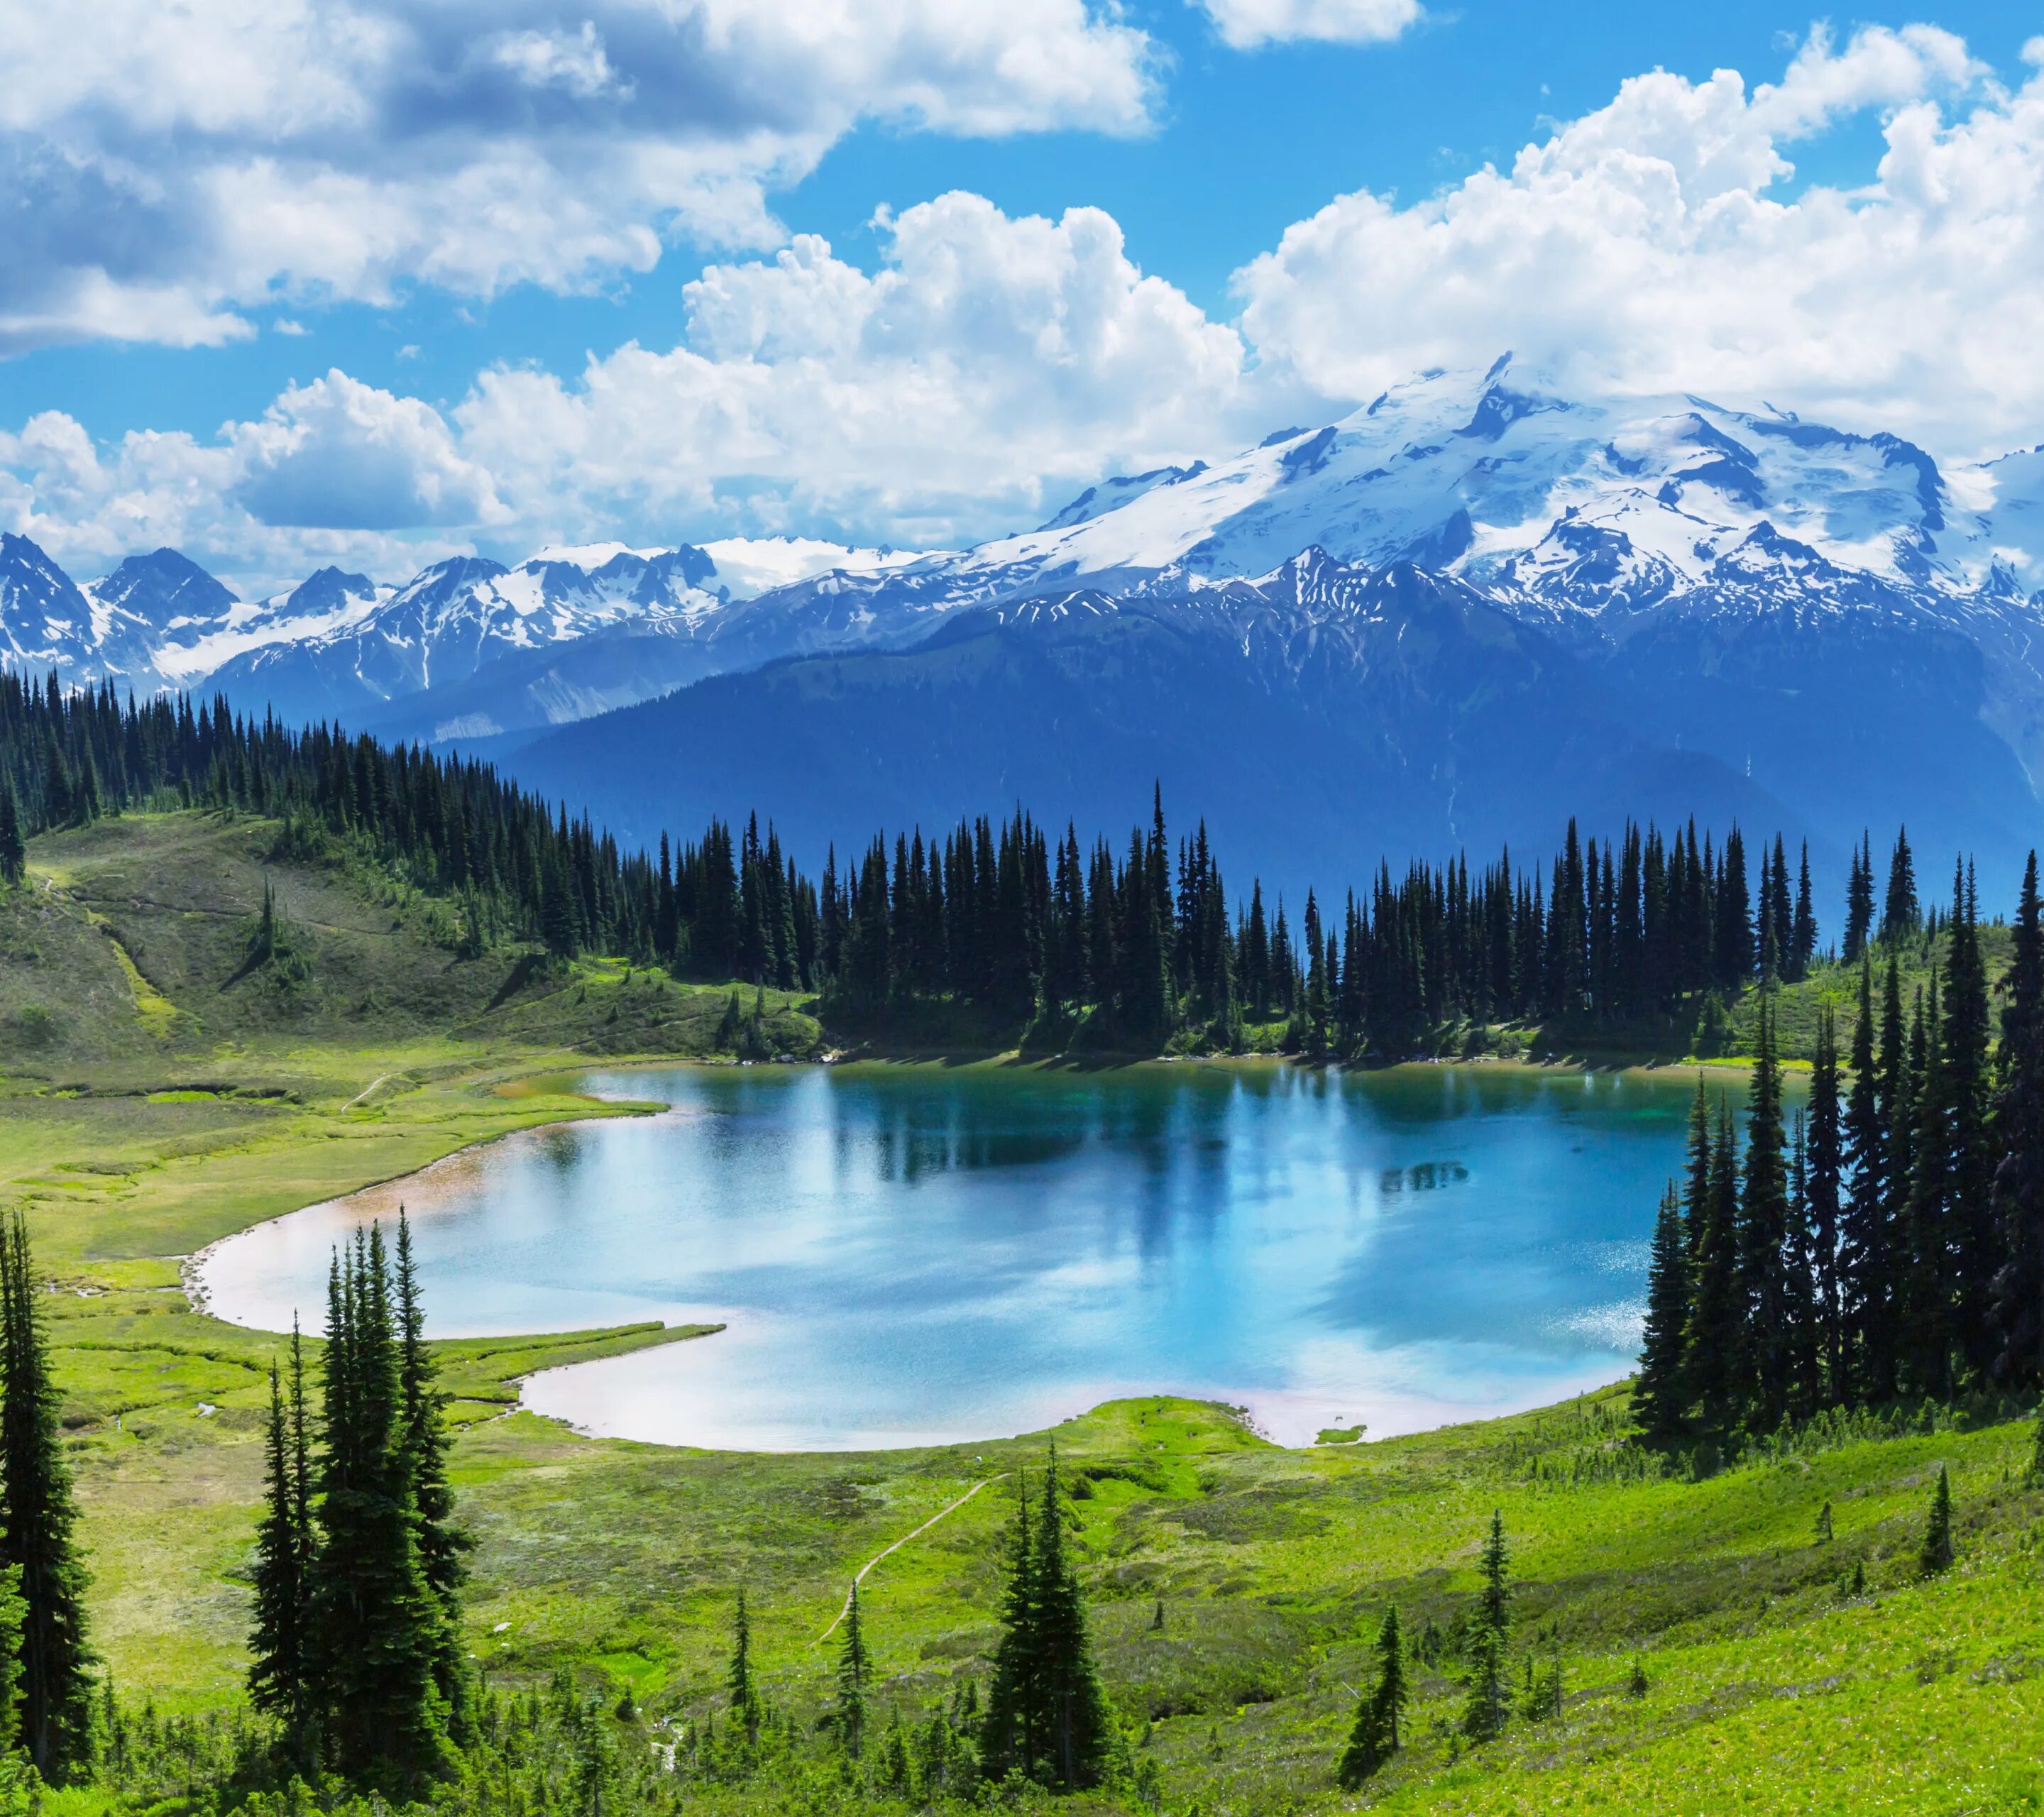
[(1656, 1441), (2044, 1386), (2036, 854), (1999, 1040), (1970, 871), (1954, 875), (1942, 932), (1942, 963), (1907, 1004), (1895, 948), (1876, 971), (1862, 944), (1850, 1053), (1825, 1010), (1809, 1104), (1793, 1120), (1770, 999), (1744, 1130), (1699, 1077), (1684, 1177), (1662, 1198), (1647, 1273), (1633, 1400)]

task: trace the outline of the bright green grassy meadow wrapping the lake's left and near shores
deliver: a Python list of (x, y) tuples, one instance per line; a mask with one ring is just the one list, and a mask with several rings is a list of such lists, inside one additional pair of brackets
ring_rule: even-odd
[[(425, 938), (421, 905), (284, 869), (315, 989), (258, 979), (276, 999), (237, 999), (225, 979), (266, 836), (178, 818), (39, 842), (43, 883), (0, 905), (0, 1030), (29, 1006), (61, 1008), (45, 1044), (4, 1055), (0, 1202), (27, 1206), (61, 1282), (53, 1331), (100, 1645), (125, 1686), (174, 1707), (235, 1686), (276, 1349), (190, 1310), (176, 1257), (466, 1140), (613, 1114), (544, 1073), (634, 1042), (685, 1051), (724, 1001), (603, 965), (505, 995), (513, 961), (464, 977)], [(94, 914), (131, 942), (139, 985)], [(360, 973), (350, 954), (368, 954)], [(354, 1018), (358, 983), (382, 997), (372, 1018)], [(850, 1574), (971, 1484), (1036, 1461), (1040, 1441), (736, 1457), (503, 1412), (523, 1369), (675, 1335), (444, 1347), (480, 1539), (472, 1645), (507, 1676), (574, 1664), (656, 1709), (701, 1707), (744, 1582), (775, 1696), (811, 1707), (830, 1662), (816, 1637)], [(1494, 1506), (1521, 1576), (1519, 1637), (1564, 1658), (1568, 1715), (1466, 1754), (1443, 1660), (1423, 1674), (1416, 1745), (1372, 1799), (1470, 1813), (2038, 1807), (2044, 1506), (2022, 1480), (2028, 1431), (1854, 1443), (1701, 1484), (1566, 1486), (1621, 1420), (1613, 1394), (1308, 1453), (1188, 1402), (1067, 1423), (1061, 1449), (1087, 1472), (1077, 1512), (1106, 1674), (1124, 1711), (1155, 1719), (1171, 1807), (1355, 1803), (1329, 1764), (1367, 1637), (1388, 1600), (1414, 1627), (1453, 1621)], [(1921, 1584), (1911, 1559), (1940, 1461), (1962, 1557)], [(977, 1666), (1012, 1482), (867, 1580), (883, 1705), (920, 1713)], [(1817, 1545), (1825, 1500), (1836, 1539)], [(1846, 1590), (1854, 1564), (1864, 1596)], [(1635, 1653), (1643, 1700), (1621, 1694)]]

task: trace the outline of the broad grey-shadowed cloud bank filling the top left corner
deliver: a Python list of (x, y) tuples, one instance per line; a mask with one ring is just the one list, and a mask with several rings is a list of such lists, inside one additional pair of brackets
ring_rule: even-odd
[(1153, 61), (1106, 0), (6, 6), (0, 354), (771, 245), (769, 190), (861, 121), (1141, 131)]

